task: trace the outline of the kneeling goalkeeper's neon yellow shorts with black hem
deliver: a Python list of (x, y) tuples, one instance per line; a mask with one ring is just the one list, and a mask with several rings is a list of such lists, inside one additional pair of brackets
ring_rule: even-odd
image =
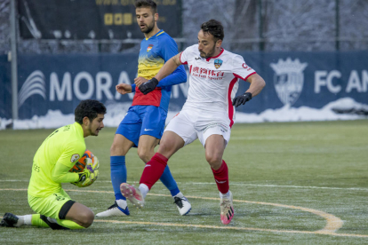
[(28, 204), (36, 213), (45, 217), (65, 219), (74, 201), (61, 189), (59, 193), (47, 197), (35, 197), (28, 194)]

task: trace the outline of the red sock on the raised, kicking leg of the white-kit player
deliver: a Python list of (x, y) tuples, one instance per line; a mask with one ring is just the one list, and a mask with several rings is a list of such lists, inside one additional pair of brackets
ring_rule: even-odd
[(140, 177), (140, 184), (148, 186), (149, 190), (164, 173), (168, 159), (163, 154), (156, 153), (143, 170)]

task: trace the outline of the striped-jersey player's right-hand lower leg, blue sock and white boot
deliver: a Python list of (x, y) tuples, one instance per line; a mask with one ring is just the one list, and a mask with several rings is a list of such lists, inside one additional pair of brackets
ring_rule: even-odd
[(164, 173), (160, 180), (172, 194), (172, 198), (174, 199), (173, 203), (175, 203), (178, 208), (180, 215), (187, 215), (190, 212), (190, 209), (192, 209), (192, 206), (190, 205), (190, 202), (188, 202), (188, 199), (180, 192), (178, 184), (176, 184), (175, 179), (172, 177), (172, 173), (168, 165), (164, 168)]

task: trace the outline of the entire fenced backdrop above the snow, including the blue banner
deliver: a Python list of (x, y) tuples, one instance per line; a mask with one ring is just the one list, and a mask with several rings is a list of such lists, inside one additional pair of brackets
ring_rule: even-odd
[[(131, 101), (114, 88), (132, 83), (137, 73), (143, 35), (133, 2), (0, 0), (0, 118), (25, 119), (56, 109), (70, 114), (80, 99)], [(268, 83), (257, 102), (240, 111), (320, 108), (346, 97), (368, 104), (366, 0), (156, 3), (159, 28), (174, 37), (180, 51), (197, 42), (204, 21), (223, 23), (223, 47), (243, 55)], [(173, 89), (173, 110), (180, 109), (187, 89), (188, 84)], [(241, 83), (239, 92), (244, 90)]]

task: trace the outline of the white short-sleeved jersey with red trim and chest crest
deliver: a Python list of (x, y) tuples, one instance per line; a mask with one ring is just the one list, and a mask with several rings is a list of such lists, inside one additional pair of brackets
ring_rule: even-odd
[(216, 57), (201, 58), (198, 44), (180, 54), (180, 62), (189, 67), (188, 99), (183, 109), (195, 107), (205, 111), (227, 111), (232, 126), (238, 78), (246, 80), (255, 71), (248, 67), (242, 56), (221, 49)]

